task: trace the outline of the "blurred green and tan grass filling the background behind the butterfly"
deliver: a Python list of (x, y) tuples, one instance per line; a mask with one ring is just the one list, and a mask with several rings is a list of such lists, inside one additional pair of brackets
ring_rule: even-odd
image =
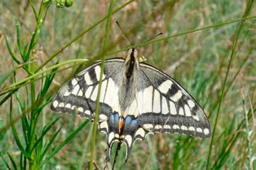
[[(131, 46), (123, 38), (116, 20), (134, 45), (162, 32), (161, 37), (154, 39), (155, 43), (140, 46), (139, 54), (144, 55), (149, 64), (178, 80), (205, 109), (212, 129), (215, 127), (213, 137), (205, 140), (184, 135), (149, 135), (135, 143), (125, 165), (123, 146), (117, 158), (117, 169), (256, 169), (256, 21), (246, 20), (244, 25), (241, 22), (229, 23), (243, 16), (255, 16), (255, 3), (248, 7), (250, 2), (134, 1), (112, 15), (110, 48), (106, 52), (110, 55), (106, 57), (125, 56), (124, 48)], [(115, 1), (114, 9), (123, 3)], [(82, 64), (83, 60), (73, 59), (90, 59), (89, 62), (100, 59), (106, 21), (79, 35), (107, 15), (109, 1), (76, 0), (69, 8), (57, 8), (51, 4), (46, 9), (46, 17), (42, 17), (44, 23), (40, 25), (35, 46), (25, 50), (30, 51), (25, 60), (17, 45), (15, 19), (20, 25), (20, 46), (25, 48), (25, 44), (31, 42), (37, 23), (31, 5), (38, 13), (38, 1), (0, 1), (0, 167), (7, 167), (7, 163), (10, 169), (15, 169), (15, 165), (17, 169), (37, 169), (38, 164), (49, 158), (40, 169), (88, 169), (92, 123), (86, 124), (78, 135), (72, 135), (72, 141), (67, 143), (67, 137), (80, 127), (84, 119), (54, 114), (49, 109), (49, 102), (60, 85), (88, 65), (88, 62)], [(220, 23), (223, 25), (217, 25)], [(202, 27), (205, 29), (197, 30)], [(42, 71), (46, 75), (45, 70), (52, 69), (59, 61), (57, 67), (61, 67), (54, 80), (47, 81), (41, 77), (43, 74), (38, 74), (28, 84), (20, 83), (18, 90), (9, 88), (33, 74), (24, 67), (17, 68), (20, 64), (15, 63), (9, 54), (4, 35), (20, 64), (30, 62), (27, 68), (30, 72)], [(77, 36), (79, 38), (73, 42)], [(69, 45), (71, 41), (73, 43)], [(63, 64), (65, 61), (70, 62)], [(41, 68), (41, 64), (46, 65)], [(74, 64), (82, 65), (74, 67)], [(17, 70), (9, 74), (13, 68)], [(45, 95), (39, 95), (43, 91), (46, 91)], [(15, 122), (10, 123), (10, 114)], [(60, 119), (54, 122), (59, 116)], [(49, 130), (44, 134), (45, 126)], [(26, 138), (25, 132), (31, 135)], [(17, 145), (17, 137), (26, 151)], [(99, 169), (103, 169), (107, 139), (103, 133), (96, 137), (94, 161)], [(31, 149), (29, 143), (36, 141), (38, 145)], [(48, 143), (49, 148), (46, 148)], [(64, 147), (54, 153), (62, 144)], [(42, 150), (47, 151), (44, 157), (41, 157)], [(25, 152), (36, 161), (27, 159), (24, 163)], [(110, 169), (111, 165), (107, 168)]]

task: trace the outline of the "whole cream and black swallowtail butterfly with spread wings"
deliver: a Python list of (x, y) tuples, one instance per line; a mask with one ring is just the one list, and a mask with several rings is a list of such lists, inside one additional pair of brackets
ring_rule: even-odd
[[(101, 61), (62, 85), (51, 103), (57, 112), (74, 113), (94, 121)], [(107, 135), (107, 161), (112, 144), (126, 145), (125, 161), (135, 140), (150, 133), (210, 137), (202, 108), (173, 78), (139, 61), (135, 48), (123, 58), (107, 59), (100, 92), (98, 126)]]

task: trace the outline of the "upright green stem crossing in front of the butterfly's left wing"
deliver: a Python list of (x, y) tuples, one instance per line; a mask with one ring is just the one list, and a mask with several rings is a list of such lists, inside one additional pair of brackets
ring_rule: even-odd
[(106, 34), (105, 34), (105, 38), (104, 38), (104, 46), (103, 46), (103, 51), (102, 51), (103, 55), (102, 55), (101, 72), (100, 72), (100, 77), (99, 77), (99, 89), (98, 89), (97, 98), (96, 98), (96, 111), (95, 111), (95, 115), (94, 115), (94, 129), (93, 129), (92, 140), (91, 140), (91, 157), (90, 157), (90, 163), (89, 163), (90, 170), (93, 169), (93, 163), (94, 163), (94, 150), (95, 150), (95, 143), (96, 143), (98, 115), (99, 115), (99, 98), (100, 98), (100, 92), (102, 89), (102, 76), (103, 76), (104, 63), (105, 63), (104, 54), (106, 53), (107, 43), (108, 43), (109, 37), (110, 37), (110, 23), (111, 23), (112, 9), (113, 9), (113, 0), (110, 0), (110, 7), (109, 7), (108, 14), (107, 14)]

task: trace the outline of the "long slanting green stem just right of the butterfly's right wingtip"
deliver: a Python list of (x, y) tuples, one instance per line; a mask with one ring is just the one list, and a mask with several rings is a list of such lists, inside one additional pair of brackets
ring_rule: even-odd
[[(249, 14), (249, 10), (251, 9), (252, 7), (252, 3), (253, 1), (249, 1), (248, 4), (247, 4), (247, 9), (245, 10), (244, 12), (244, 15), (243, 15), (243, 18), (246, 18), (247, 15)], [(213, 145), (213, 141), (215, 139), (215, 129), (217, 127), (217, 124), (218, 124), (218, 117), (220, 115), (220, 108), (221, 108), (221, 104), (223, 102), (223, 98), (225, 97), (224, 94), (225, 93), (225, 89), (226, 89), (226, 82), (228, 80), (228, 74), (229, 74), (229, 70), (231, 69), (231, 63), (233, 61), (233, 58), (234, 58), (234, 54), (235, 54), (235, 51), (236, 51), (236, 45), (237, 45), (237, 41), (238, 41), (238, 38), (239, 38), (239, 35), (241, 33), (241, 30), (242, 30), (242, 27), (244, 26), (244, 22), (245, 20), (241, 20), (240, 24), (239, 24), (239, 28), (238, 30), (236, 31), (236, 33), (234, 34), (235, 37), (234, 37), (234, 41), (233, 41), (233, 46), (232, 46), (232, 51), (231, 51), (231, 56), (230, 56), (230, 59), (228, 61), (228, 67), (227, 67), (227, 71), (226, 71), (226, 76), (225, 76), (225, 79), (224, 79), (224, 82), (223, 82), (223, 86), (221, 88), (221, 95), (220, 95), (220, 101), (219, 101), (219, 104), (218, 104), (218, 111), (217, 111), (217, 115), (215, 117), (215, 124), (214, 124), (214, 127), (213, 127), (213, 130), (212, 130), (212, 139), (211, 139), (211, 143), (210, 143), (210, 149), (209, 149), (209, 153), (208, 153), (208, 158), (207, 158), (207, 166), (206, 166), (206, 169), (209, 169), (209, 166), (210, 166), (210, 156), (211, 156), (211, 152), (212, 152), (212, 145)]]

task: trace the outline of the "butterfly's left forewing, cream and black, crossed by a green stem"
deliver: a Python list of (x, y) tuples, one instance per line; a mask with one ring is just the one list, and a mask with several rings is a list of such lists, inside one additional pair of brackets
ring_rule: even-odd
[[(72, 80), (62, 85), (51, 103), (51, 109), (59, 113), (70, 113), (77, 111), (81, 117), (94, 120), (96, 109), (96, 95), (99, 88), (99, 74), (101, 62), (80, 72)], [(102, 79), (100, 95), (99, 122), (107, 120), (108, 117), (118, 109), (118, 86), (120, 80), (117, 76), (123, 66), (123, 59), (110, 59), (106, 61)], [(102, 124), (102, 127), (104, 125)], [(106, 129), (103, 128), (103, 129)]]

